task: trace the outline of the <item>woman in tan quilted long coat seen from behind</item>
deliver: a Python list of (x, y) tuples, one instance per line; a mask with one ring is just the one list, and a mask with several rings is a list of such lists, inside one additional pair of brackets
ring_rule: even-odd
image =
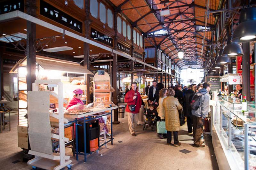
[(179, 100), (174, 98), (175, 91), (173, 89), (167, 90), (167, 97), (163, 100), (165, 128), (167, 130), (167, 144), (172, 142), (172, 132), (174, 138), (174, 146), (180, 146), (178, 140), (178, 131), (180, 131), (179, 112), (182, 108)]

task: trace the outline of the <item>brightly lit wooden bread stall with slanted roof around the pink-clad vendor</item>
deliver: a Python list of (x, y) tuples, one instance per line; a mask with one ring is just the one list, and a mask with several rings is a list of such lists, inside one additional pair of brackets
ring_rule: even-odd
[[(28, 148), (28, 117), (27, 117), (27, 59), (20, 60), (10, 71), (18, 74), (18, 146), (22, 149)], [(59, 79), (63, 82), (64, 106), (73, 97), (73, 90), (82, 89), (82, 100), (86, 104), (85, 74), (92, 74), (84, 69), (79, 63), (36, 56), (36, 80)], [(51, 85), (40, 85), (40, 91), (56, 92), (56, 88)], [(56, 112), (59, 108), (58, 101), (51, 98), (50, 111)], [(56, 120), (57, 121), (57, 120)], [(54, 119), (52, 124), (54, 123)], [(71, 128), (65, 129), (66, 136), (71, 135)]]

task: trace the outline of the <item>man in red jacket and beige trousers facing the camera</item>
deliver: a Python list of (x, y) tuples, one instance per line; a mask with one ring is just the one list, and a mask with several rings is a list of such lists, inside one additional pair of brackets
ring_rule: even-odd
[[(141, 97), (140, 93), (136, 90), (137, 84), (135, 82), (132, 83), (132, 89), (128, 91), (124, 97), (124, 102), (127, 103), (125, 112), (128, 117), (128, 126), (132, 136), (136, 136), (135, 127), (139, 120), (139, 112), (141, 107)], [(135, 105), (135, 110), (131, 111), (129, 106)]]

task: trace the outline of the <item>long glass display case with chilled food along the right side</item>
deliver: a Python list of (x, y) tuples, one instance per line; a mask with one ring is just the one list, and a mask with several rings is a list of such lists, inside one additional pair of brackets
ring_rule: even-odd
[[(255, 103), (247, 102), (248, 112), (242, 113), (242, 100), (218, 97), (219, 112), (213, 120), (231, 169), (256, 169)], [(216, 155), (217, 157), (217, 155)]]

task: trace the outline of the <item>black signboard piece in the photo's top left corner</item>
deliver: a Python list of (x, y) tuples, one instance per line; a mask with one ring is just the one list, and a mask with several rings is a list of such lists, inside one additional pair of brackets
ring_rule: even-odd
[(24, 0), (12, 0), (0, 3), (0, 14), (4, 14), (12, 11), (22, 11), (24, 12)]

